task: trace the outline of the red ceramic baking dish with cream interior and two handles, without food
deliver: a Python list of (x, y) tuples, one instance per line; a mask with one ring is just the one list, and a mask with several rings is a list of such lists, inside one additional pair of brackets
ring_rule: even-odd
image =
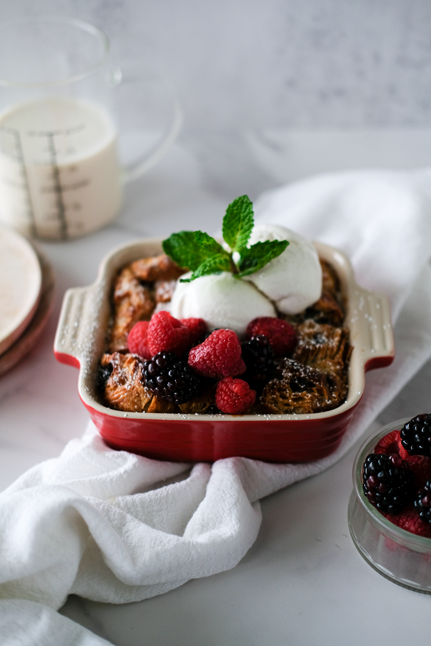
[(68, 289), (63, 299), (54, 353), (79, 368), (79, 397), (105, 442), (154, 459), (186, 462), (240, 455), (286, 463), (330, 455), (363, 395), (364, 373), (388, 366), (395, 350), (388, 298), (359, 287), (348, 258), (320, 243), (315, 244), (319, 256), (341, 280), (353, 346), (348, 397), (339, 408), (310, 415), (182, 415), (124, 413), (98, 402), (95, 375), (105, 351), (112, 280), (132, 260), (162, 253), (161, 242), (144, 239), (114, 249), (102, 260), (94, 284)]

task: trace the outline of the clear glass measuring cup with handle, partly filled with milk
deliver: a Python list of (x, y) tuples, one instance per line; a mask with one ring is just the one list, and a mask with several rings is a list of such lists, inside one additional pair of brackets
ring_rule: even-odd
[[(103, 32), (75, 19), (0, 24), (1, 223), (40, 238), (90, 233), (118, 214), (123, 184), (174, 141), (182, 121), (178, 103), (169, 92), (160, 96), (160, 83), (156, 96), (154, 79), (135, 78), (125, 96), (129, 111), (136, 101), (140, 128), (129, 132), (133, 161), (121, 167), (121, 72), (109, 50)], [(169, 105), (152, 105), (147, 114), (142, 95), (151, 92), (155, 103)]]

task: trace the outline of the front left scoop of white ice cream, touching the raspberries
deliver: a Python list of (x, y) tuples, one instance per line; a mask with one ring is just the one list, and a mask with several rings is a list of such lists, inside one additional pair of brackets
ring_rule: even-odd
[[(182, 278), (189, 278), (191, 272)], [(256, 317), (276, 317), (273, 304), (253, 284), (221, 274), (201, 276), (189, 283), (176, 282), (171, 300), (171, 314), (175, 318), (203, 318), (212, 331), (233, 329), (244, 338), (247, 325)]]

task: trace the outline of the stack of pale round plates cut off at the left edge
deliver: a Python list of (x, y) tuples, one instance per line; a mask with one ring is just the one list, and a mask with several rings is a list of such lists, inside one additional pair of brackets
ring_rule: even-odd
[(0, 227), (0, 375), (36, 344), (54, 300), (52, 267), (23, 236)]

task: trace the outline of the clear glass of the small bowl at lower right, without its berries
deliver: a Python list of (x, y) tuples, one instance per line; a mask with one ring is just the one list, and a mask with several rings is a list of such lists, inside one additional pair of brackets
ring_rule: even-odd
[(410, 418), (387, 424), (361, 446), (353, 464), (353, 492), (348, 524), (359, 554), (379, 574), (409, 590), (431, 594), (431, 539), (410, 534), (386, 520), (366, 499), (362, 475), (367, 455), (387, 433), (401, 430)]

